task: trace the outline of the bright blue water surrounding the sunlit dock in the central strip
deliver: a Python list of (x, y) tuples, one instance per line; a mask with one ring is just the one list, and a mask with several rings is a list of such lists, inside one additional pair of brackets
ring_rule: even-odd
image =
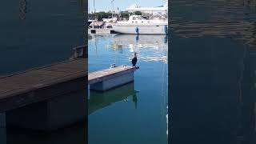
[(165, 144), (167, 106), (166, 36), (90, 35), (89, 71), (131, 65), (140, 67), (134, 82), (105, 93), (89, 94), (89, 143)]

